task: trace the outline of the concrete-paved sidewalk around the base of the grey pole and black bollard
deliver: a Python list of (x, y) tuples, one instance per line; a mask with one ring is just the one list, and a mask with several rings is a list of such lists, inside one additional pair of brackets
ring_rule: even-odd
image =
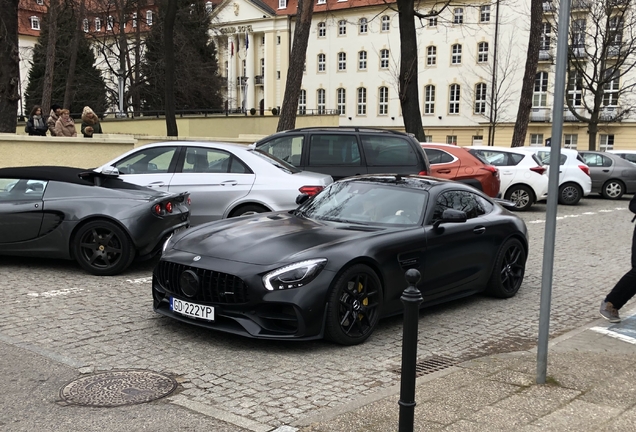
[[(635, 313), (627, 312), (620, 324), (600, 318), (552, 340), (545, 385), (535, 384), (536, 349), (418, 378), (415, 430), (636, 430)], [(399, 386), (385, 393), (281, 431), (397, 431)]]

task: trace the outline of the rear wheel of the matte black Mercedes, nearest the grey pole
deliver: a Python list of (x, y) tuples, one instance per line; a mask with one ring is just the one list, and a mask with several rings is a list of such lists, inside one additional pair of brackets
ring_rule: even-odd
[(510, 298), (517, 294), (526, 271), (526, 250), (517, 239), (508, 239), (501, 246), (488, 282), (488, 294)]

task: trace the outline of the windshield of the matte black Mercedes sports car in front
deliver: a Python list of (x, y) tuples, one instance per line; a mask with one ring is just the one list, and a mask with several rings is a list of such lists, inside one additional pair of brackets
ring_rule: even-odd
[(372, 182), (337, 182), (298, 209), (318, 220), (359, 225), (414, 226), (422, 220), (428, 193)]

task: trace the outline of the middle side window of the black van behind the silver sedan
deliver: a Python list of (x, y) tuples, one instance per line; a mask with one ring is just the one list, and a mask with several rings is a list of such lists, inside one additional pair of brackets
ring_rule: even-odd
[(309, 165), (359, 166), (360, 149), (355, 135), (312, 135)]

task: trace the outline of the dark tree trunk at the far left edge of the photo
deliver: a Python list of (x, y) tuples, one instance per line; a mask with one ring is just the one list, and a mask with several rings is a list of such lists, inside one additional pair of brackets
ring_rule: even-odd
[(0, 0), (0, 132), (15, 133), (20, 100), (18, 2)]

